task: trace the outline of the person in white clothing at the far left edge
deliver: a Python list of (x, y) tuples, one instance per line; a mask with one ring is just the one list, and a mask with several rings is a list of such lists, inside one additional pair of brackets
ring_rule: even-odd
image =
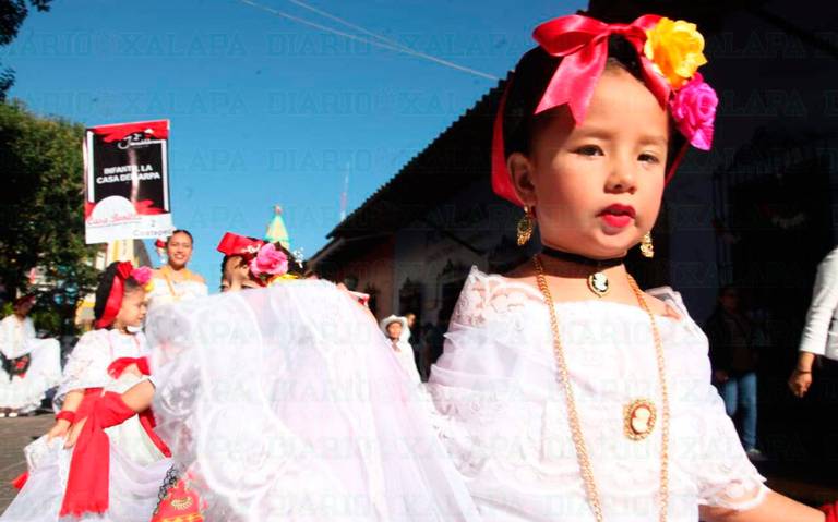
[(38, 339), (29, 311), (35, 296), (14, 301), (14, 313), (0, 320), (0, 416), (34, 412), (50, 388), (61, 381), (61, 347)]

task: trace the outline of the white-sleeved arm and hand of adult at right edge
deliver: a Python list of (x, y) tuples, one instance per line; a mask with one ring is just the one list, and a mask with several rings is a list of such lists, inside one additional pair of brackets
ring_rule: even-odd
[(800, 340), (798, 363), (789, 377), (789, 388), (802, 398), (812, 386), (812, 364), (816, 355), (838, 361), (838, 248), (817, 266), (812, 304)]

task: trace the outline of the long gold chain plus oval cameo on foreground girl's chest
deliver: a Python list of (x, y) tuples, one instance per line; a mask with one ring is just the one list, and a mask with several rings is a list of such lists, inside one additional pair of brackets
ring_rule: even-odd
[[(547, 307), (550, 312), (550, 329), (553, 338), (553, 356), (555, 357), (555, 366), (559, 371), (559, 378), (561, 380), (564, 399), (567, 409), (567, 421), (571, 427), (571, 436), (573, 445), (576, 449), (576, 459), (579, 463), (579, 472), (585, 485), (585, 493), (588, 497), (588, 503), (594, 511), (594, 517), (597, 522), (602, 522), (602, 505), (600, 503), (599, 491), (597, 484), (594, 481), (594, 469), (590, 464), (590, 457), (588, 456), (587, 446), (585, 444), (585, 437), (582, 433), (582, 422), (579, 421), (578, 412), (576, 411), (576, 400), (573, 393), (573, 386), (571, 384), (570, 372), (567, 369), (567, 362), (564, 356), (564, 348), (562, 345), (562, 339), (559, 331), (559, 317), (555, 313), (555, 306), (553, 303), (550, 288), (547, 284), (547, 277), (544, 276), (544, 266), (541, 263), (541, 258), (536, 255), (532, 258), (532, 263), (536, 266), (536, 281), (538, 289), (541, 292)], [(630, 275), (628, 286), (632, 289), (637, 303), (641, 308), (649, 316), (651, 324), (651, 335), (655, 340), (655, 354), (658, 364), (658, 380), (660, 386), (660, 399), (661, 399), (661, 442), (660, 442), (660, 491), (659, 501), (660, 510), (658, 513), (658, 520), (666, 522), (667, 509), (669, 503), (669, 392), (667, 389), (667, 368), (666, 360), (663, 357), (663, 343), (660, 339), (660, 332), (658, 325), (655, 320), (655, 314), (653, 314), (646, 298), (641, 291), (637, 282)], [(624, 425), (622, 426), (623, 433), (632, 440), (642, 440), (651, 434), (657, 420), (657, 412), (654, 403), (648, 399), (638, 399), (627, 404), (623, 411)]]

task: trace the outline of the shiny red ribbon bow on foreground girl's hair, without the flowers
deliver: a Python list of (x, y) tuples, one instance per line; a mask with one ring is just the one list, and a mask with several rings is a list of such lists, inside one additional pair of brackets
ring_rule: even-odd
[[(532, 32), (532, 38), (553, 57), (562, 61), (550, 78), (535, 114), (567, 105), (571, 117), (578, 125), (585, 120), (594, 89), (606, 69), (608, 60), (608, 37), (623, 36), (637, 51), (646, 86), (658, 99), (661, 107), (667, 107), (670, 87), (667, 80), (655, 72), (654, 64), (643, 52), (646, 31), (658, 23), (660, 16), (646, 14), (631, 24), (607, 24), (588, 16), (572, 14), (544, 22)], [(514, 77), (512, 80), (515, 81)], [(506, 93), (508, 86), (506, 87)], [(506, 93), (501, 98), (492, 133), (492, 189), (495, 194), (517, 206), (524, 206), (512, 185), (512, 177), (506, 168), (503, 143), (503, 112)], [(668, 179), (674, 171), (675, 161), (670, 168)]]

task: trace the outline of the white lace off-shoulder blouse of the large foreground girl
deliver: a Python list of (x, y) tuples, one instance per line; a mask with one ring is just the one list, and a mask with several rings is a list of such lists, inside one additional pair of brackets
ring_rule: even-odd
[[(683, 317), (656, 317), (671, 413), (668, 520), (694, 522), (698, 505), (753, 507), (767, 488), (710, 385), (707, 339), (677, 293), (658, 296)], [(656, 520), (660, 390), (648, 315), (600, 300), (555, 307), (604, 519)], [(472, 268), (429, 391), (443, 442), (484, 520), (595, 520), (537, 289)], [(637, 399), (657, 405), (658, 421), (635, 441), (624, 435), (623, 409)]]

